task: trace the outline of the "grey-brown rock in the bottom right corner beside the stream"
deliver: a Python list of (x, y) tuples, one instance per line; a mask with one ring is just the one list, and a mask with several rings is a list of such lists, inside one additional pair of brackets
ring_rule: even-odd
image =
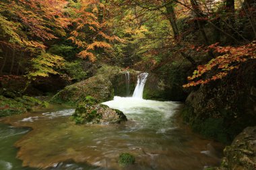
[(256, 169), (256, 126), (248, 127), (224, 149), (224, 158), (219, 170)]

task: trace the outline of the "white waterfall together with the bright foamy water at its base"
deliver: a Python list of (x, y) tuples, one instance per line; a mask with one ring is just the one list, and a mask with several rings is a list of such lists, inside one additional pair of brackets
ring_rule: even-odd
[[(127, 115), (129, 120), (137, 120), (137, 122), (144, 122), (146, 124), (150, 123), (153, 119), (158, 121), (166, 121), (170, 118), (174, 112), (177, 111), (179, 103), (174, 101), (155, 101), (143, 99), (143, 88), (147, 81), (148, 73), (141, 73), (138, 75), (137, 85), (133, 92), (133, 97), (119, 97), (115, 96), (113, 100), (106, 101), (103, 104), (108, 105), (108, 107), (121, 110)], [(147, 116), (150, 114), (151, 116)], [(164, 128), (162, 131), (165, 132)]]

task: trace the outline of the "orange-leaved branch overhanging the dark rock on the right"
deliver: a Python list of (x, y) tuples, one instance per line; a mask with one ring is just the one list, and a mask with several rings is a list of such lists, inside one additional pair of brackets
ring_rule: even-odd
[[(199, 65), (197, 70), (193, 72), (193, 75), (187, 78), (189, 83), (183, 85), (183, 87), (206, 84), (210, 81), (222, 79), (232, 70), (239, 69), (244, 62), (256, 60), (256, 41), (237, 47), (218, 46), (218, 43), (216, 43), (207, 48), (221, 55), (210, 60), (206, 65)], [(207, 73), (210, 73), (214, 69), (216, 69), (214, 72), (216, 74), (208, 78)], [(206, 77), (205, 79), (203, 79), (204, 76)]]

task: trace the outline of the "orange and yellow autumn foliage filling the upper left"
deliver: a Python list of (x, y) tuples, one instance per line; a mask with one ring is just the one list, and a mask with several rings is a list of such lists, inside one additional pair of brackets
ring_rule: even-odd
[(6, 62), (13, 68), (15, 58), (23, 60), (26, 54), (29, 79), (58, 74), (65, 60), (51, 54), (49, 44), (61, 38), (73, 42), (78, 57), (94, 62), (97, 53), (110, 50), (111, 42), (120, 40), (108, 29), (106, 11), (98, 0), (0, 1), (0, 52), (5, 54), (0, 71)]

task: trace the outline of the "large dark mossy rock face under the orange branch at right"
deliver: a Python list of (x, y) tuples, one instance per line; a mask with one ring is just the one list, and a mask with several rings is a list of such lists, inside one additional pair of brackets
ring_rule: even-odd
[(256, 125), (256, 73), (247, 66), (239, 73), (189, 94), (182, 114), (195, 132), (229, 144), (244, 128)]

